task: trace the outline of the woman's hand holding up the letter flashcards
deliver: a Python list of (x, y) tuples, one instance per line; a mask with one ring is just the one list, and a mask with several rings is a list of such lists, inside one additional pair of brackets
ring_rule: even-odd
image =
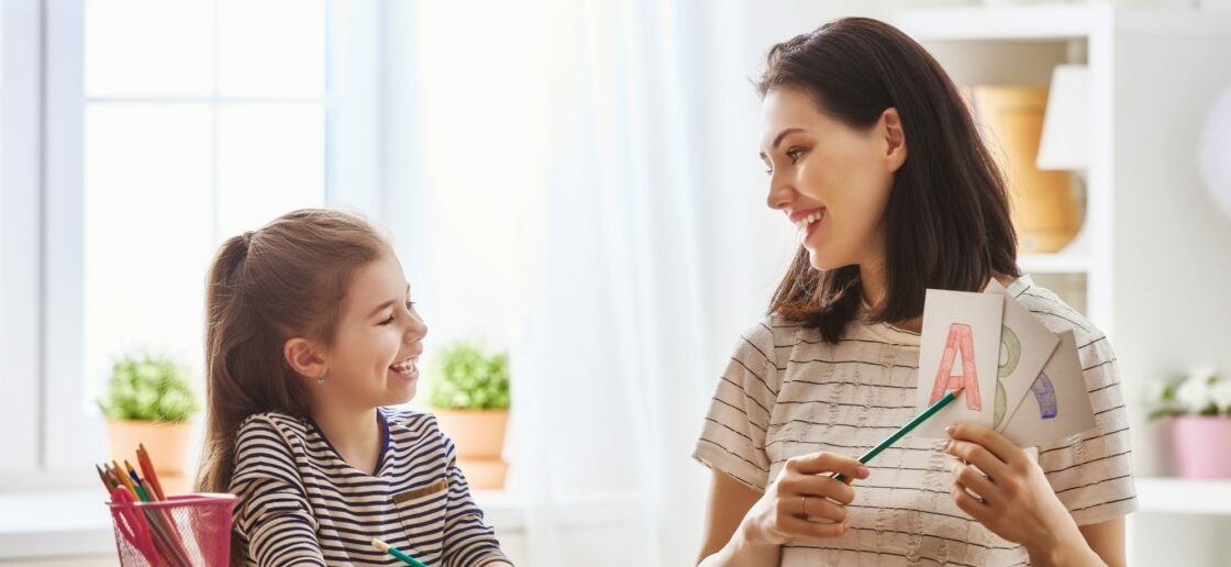
[(1025, 546), (1033, 565), (1103, 565), (1056, 498), (1039, 464), (1000, 433), (972, 423), (945, 428), (953, 502), (996, 535)]

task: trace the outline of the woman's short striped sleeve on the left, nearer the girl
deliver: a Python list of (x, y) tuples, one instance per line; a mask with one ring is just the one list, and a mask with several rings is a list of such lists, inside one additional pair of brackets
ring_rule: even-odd
[(766, 430), (779, 390), (771, 325), (762, 321), (740, 336), (693, 450), (693, 459), (757, 492), (769, 481)]

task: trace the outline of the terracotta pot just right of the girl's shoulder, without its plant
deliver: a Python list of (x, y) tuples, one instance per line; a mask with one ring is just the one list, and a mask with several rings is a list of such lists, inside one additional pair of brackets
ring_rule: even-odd
[(433, 410), (441, 430), (457, 446), (458, 466), (471, 488), (505, 487), (508, 464), (501, 459), (508, 410)]

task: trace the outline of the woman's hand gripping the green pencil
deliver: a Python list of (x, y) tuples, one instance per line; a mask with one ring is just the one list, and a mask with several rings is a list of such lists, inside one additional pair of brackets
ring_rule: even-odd
[(854, 490), (831, 478), (867, 478), (868, 467), (848, 456), (812, 453), (787, 461), (740, 523), (748, 544), (782, 545), (794, 537), (837, 537), (846, 533), (846, 508)]

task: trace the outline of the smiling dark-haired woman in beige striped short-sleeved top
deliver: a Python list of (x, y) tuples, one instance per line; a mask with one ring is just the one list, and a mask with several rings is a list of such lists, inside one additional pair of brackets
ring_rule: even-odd
[[(801, 247), (697, 443), (713, 470), (700, 563), (1124, 565), (1136, 496), (1115, 355), (1019, 273), (1004, 183), (945, 73), (849, 18), (774, 46), (760, 91), (768, 205)], [(1097, 427), (1034, 454), (958, 424), (860, 465), (916, 413), (924, 290), (990, 278), (1073, 331)]]

